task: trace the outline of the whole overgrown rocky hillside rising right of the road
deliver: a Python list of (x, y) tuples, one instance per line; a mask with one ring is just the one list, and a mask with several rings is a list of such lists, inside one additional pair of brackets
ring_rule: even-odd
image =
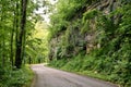
[(68, 0), (72, 5), (60, 1), (51, 15), (49, 65), (130, 87), (131, 2), (118, 0), (115, 8), (110, 5), (116, 2), (108, 0), (105, 12), (92, 8), (98, 0)]

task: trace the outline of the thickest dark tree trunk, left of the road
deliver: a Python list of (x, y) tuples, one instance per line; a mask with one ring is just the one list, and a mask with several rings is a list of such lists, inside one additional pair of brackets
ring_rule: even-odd
[(15, 66), (17, 69), (21, 67), (22, 65), (22, 47), (23, 47), (23, 36), (25, 33), (25, 24), (26, 24), (26, 8), (27, 8), (27, 0), (22, 0), (21, 2), (21, 12), (22, 12), (22, 17), (21, 17), (21, 28), (20, 28), (20, 36), (19, 40), (16, 42), (16, 57), (15, 57)]

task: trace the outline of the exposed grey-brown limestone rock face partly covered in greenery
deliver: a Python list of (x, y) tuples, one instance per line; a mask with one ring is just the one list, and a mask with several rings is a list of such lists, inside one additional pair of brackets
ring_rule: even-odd
[[(119, 0), (100, 0), (86, 7), (85, 12), (96, 9), (107, 15), (116, 10), (119, 4)], [(112, 18), (116, 21), (115, 17)], [(76, 17), (73, 21), (76, 21)], [(72, 27), (72, 24), (67, 26), (66, 30), (50, 40), (49, 59), (71, 58), (81, 51), (90, 53), (93, 49), (100, 48), (100, 45), (96, 42), (98, 34), (96, 32), (95, 20), (91, 21), (90, 26), (92, 30), (84, 34), (81, 33), (81, 27)]]

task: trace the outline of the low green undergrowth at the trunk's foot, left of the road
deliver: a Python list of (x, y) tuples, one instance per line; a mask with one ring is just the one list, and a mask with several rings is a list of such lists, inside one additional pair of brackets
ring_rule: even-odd
[(28, 87), (31, 85), (33, 72), (28, 66), (22, 67), (21, 70), (9, 70), (10, 69), (4, 70), (4, 75), (0, 80), (0, 87)]

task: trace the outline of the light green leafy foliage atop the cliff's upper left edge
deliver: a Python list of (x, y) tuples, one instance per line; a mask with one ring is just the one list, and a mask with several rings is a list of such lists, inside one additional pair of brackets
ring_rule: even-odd
[(53, 38), (59, 35), (60, 32), (64, 32), (67, 26), (70, 26), (69, 23), (74, 16), (81, 13), (81, 10), (85, 9), (86, 3), (87, 1), (85, 0), (59, 0), (50, 15), (51, 27), (49, 38)]

